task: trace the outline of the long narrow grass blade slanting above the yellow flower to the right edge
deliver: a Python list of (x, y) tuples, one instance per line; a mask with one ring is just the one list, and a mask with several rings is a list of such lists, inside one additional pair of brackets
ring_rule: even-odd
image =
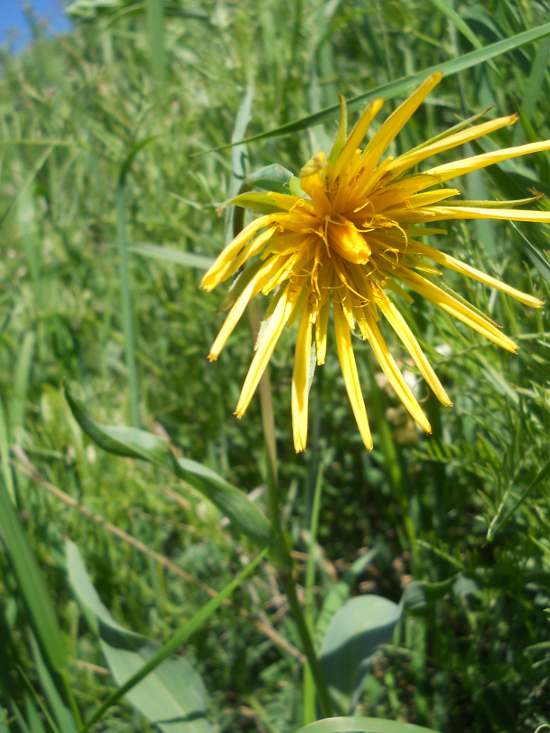
[[(352, 99), (350, 99), (347, 103), (348, 111), (359, 109), (360, 107), (368, 104), (368, 102), (371, 102), (377, 97), (383, 97), (384, 99), (393, 99), (394, 97), (406, 94), (413, 87), (421, 84), (425, 79), (427, 79), (428, 76), (436, 71), (443, 72), (443, 76), (445, 77), (454, 76), (461, 71), (471, 69), (474, 66), (478, 66), (479, 64), (488, 61), (489, 59), (500, 56), (503, 53), (513, 51), (514, 49), (525, 46), (528, 43), (533, 43), (533, 41), (536, 41), (539, 38), (545, 38), (548, 35), (550, 35), (550, 23), (544, 23), (537, 28), (523, 31), (522, 33), (518, 33), (515, 36), (506, 38), (503, 41), (497, 41), (496, 43), (492, 43), (489, 46), (485, 46), (484, 48), (480, 48), (476, 51), (466, 53), (463, 56), (459, 56), (456, 59), (446, 61), (443, 64), (430, 66), (428, 69), (424, 69), (423, 71), (418, 71), (416, 74), (411, 74), (410, 76), (397, 79), (396, 81), (392, 81), (389, 84), (382, 84), (381, 86), (375, 87), (370, 92), (359, 94), (357, 97), (353, 97)], [(307, 117), (301, 117), (299, 120), (287, 122), (286, 124), (281, 125), (280, 127), (276, 127), (273, 130), (262, 132), (259, 135), (254, 135), (252, 137), (246, 138), (245, 140), (239, 140), (237, 142), (232, 142), (227, 145), (222, 145), (219, 148), (214, 148), (214, 150), (224, 150), (225, 148), (229, 148), (232, 145), (257, 142), (258, 140), (266, 140), (272, 137), (281, 137), (282, 135), (290, 135), (291, 133), (298, 132), (299, 130), (304, 130), (307, 127), (314, 127), (315, 125), (319, 125), (322, 122), (326, 122), (327, 120), (335, 119), (338, 116), (339, 111), (340, 105), (335, 104), (331, 107), (327, 107), (326, 109), (321, 110), (320, 112), (315, 112), (314, 114), (307, 115)], [(213, 151), (207, 150), (205, 152)], [(204, 155), (204, 153), (201, 154)]]

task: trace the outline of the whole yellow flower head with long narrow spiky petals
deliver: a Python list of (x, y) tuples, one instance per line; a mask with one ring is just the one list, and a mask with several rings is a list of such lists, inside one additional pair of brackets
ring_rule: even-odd
[[(298, 339), (292, 376), (292, 423), (296, 451), (307, 440), (308, 393), (313, 340), (317, 364), (325, 361), (327, 327), (332, 301), (336, 347), (346, 389), (361, 437), (368, 450), (372, 438), (351, 342), (356, 327), (368, 339), (395, 393), (416, 422), (427, 432), (430, 424), (403, 378), (379, 327), (384, 316), (403, 342), (424, 379), (447, 406), (451, 400), (422, 352), (393, 299), (398, 295), (412, 302), (415, 291), (455, 318), (508, 351), (516, 345), (491, 321), (436, 284), (443, 265), (493, 288), (508, 293), (525, 305), (542, 307), (536, 298), (510, 287), (450, 255), (421, 243), (418, 238), (445, 233), (422, 226), (442, 219), (508, 219), (550, 222), (550, 213), (513, 208), (522, 202), (441, 202), (459, 191), (443, 183), (508, 158), (550, 149), (550, 141), (506, 148), (446, 163), (421, 173), (406, 175), (417, 163), (432, 155), (462, 145), (517, 120), (501, 117), (435, 138), (397, 158), (382, 159), (384, 151), (409, 120), (441, 74), (429, 77), (358, 149), (383, 100), (371, 102), (346, 137), (346, 108), (342, 101), (340, 128), (328, 157), (314, 155), (302, 168), (303, 195), (275, 192), (261, 194), (254, 220), (222, 251), (201, 283), (212, 290), (257, 257), (233, 288), (233, 305), (216, 338), (209, 359), (220, 354), (227, 338), (257, 293), (274, 292), (256, 346), (235, 414), (242, 417), (271, 358), (285, 326), (298, 318)], [(253, 198), (252, 194), (252, 198)], [(527, 201), (533, 201), (530, 199)], [(267, 206), (265, 202), (267, 201)], [(263, 206), (263, 208), (262, 208)], [(420, 224), (420, 226), (418, 226)], [(431, 260), (431, 263), (428, 262)], [(434, 263), (434, 264), (432, 264)], [(399, 281), (399, 282), (398, 282)]]

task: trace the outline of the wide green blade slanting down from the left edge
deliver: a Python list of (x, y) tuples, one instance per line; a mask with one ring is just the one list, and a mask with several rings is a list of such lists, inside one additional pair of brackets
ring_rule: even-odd
[(32, 629), (53, 669), (67, 666), (65, 648), (49, 591), (0, 476), (0, 538), (27, 609)]

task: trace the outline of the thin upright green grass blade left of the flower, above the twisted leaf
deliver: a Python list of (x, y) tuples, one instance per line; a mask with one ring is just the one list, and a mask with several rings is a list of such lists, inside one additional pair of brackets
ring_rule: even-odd
[(124, 333), (124, 351), (128, 370), (128, 391), (130, 396), (130, 420), (133, 427), (138, 428), (139, 394), (136, 368), (136, 346), (134, 322), (132, 318), (132, 294), (130, 291), (130, 273), (128, 269), (128, 250), (126, 248), (126, 186), (120, 182), (117, 189), (117, 246), (119, 259), (120, 289), (122, 299), (122, 329)]

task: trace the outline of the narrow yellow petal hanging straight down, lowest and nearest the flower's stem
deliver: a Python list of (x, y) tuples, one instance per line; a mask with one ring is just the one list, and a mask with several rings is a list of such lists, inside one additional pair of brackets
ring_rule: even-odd
[(306, 305), (300, 318), (296, 352), (294, 354), (294, 370), (292, 372), (292, 432), (296, 453), (304, 451), (307, 443), (312, 326), (311, 309)]

